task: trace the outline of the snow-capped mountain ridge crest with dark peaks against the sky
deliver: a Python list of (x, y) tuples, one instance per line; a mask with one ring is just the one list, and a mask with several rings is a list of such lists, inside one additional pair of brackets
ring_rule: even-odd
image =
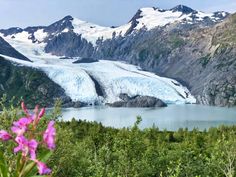
[(71, 16), (66, 16), (49, 26), (10, 28), (0, 30), (4, 37), (32, 43), (48, 43), (63, 33), (75, 33), (96, 46), (97, 41), (105, 41), (118, 36), (138, 33), (140, 30), (152, 30), (171, 23), (212, 25), (225, 19), (229, 13), (204, 13), (179, 5), (172, 9), (142, 8), (127, 23), (119, 27), (103, 27)]

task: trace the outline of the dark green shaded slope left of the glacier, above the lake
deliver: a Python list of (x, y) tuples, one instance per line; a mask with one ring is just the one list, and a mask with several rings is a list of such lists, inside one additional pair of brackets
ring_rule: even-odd
[(0, 57), (0, 96), (24, 99), (31, 108), (35, 103), (53, 106), (56, 98), (68, 99), (64, 90), (37, 69), (20, 66)]

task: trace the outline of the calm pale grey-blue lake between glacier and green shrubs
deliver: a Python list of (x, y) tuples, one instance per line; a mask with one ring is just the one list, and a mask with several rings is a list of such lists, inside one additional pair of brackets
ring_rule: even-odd
[(167, 108), (111, 108), (85, 107), (63, 109), (63, 120), (97, 121), (104, 126), (131, 127), (136, 117), (141, 116), (140, 128), (155, 126), (161, 130), (198, 128), (199, 130), (220, 125), (236, 125), (236, 108), (222, 108), (202, 105), (169, 105)]

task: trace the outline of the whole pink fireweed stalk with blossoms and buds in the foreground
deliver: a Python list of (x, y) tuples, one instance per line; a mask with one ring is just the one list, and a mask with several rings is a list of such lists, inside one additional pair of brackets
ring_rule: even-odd
[[(45, 114), (45, 108), (39, 111), (39, 107), (36, 106), (34, 114), (30, 114), (24, 102), (21, 103), (21, 107), (26, 116), (20, 118), (16, 122), (13, 122), (11, 127), (12, 133), (8, 133), (5, 130), (0, 130), (0, 140), (4, 142), (13, 141), (16, 144), (13, 152), (15, 154), (21, 153), (21, 167), (17, 172), (19, 177), (24, 176), (24, 173), (26, 173), (26, 165), (31, 162), (34, 164), (33, 167), (37, 166), (38, 173), (40, 175), (49, 175), (51, 174), (51, 169), (37, 159), (37, 149), (39, 148), (39, 145), (49, 150), (55, 149), (55, 122), (50, 121), (44, 132), (37, 132), (37, 126), (40, 119)], [(42, 142), (37, 141), (37, 139), (40, 138), (42, 139)], [(32, 169), (33, 168), (31, 168), (31, 170)], [(27, 171), (27, 173), (29, 173), (29, 171)]]

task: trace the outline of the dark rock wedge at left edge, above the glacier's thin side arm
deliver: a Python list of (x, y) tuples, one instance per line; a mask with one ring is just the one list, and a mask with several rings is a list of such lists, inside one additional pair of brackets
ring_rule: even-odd
[(3, 38), (0, 37), (0, 54), (9, 57), (14, 57), (17, 59), (30, 61), (27, 57), (22, 55), (20, 52), (15, 50), (9, 43), (7, 43)]

